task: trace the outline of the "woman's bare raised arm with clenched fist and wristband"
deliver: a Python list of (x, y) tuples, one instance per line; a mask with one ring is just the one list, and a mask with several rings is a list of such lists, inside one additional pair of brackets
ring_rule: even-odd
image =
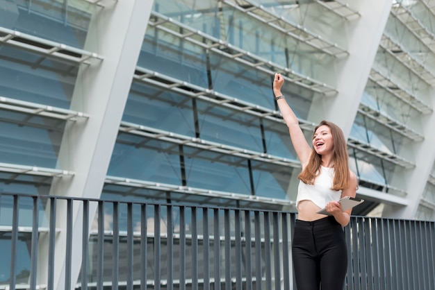
[(299, 121), (297, 121), (295, 112), (293, 112), (293, 110), (290, 108), (284, 97), (279, 98), (279, 96), (282, 96), (281, 87), (283, 84), (284, 78), (281, 76), (281, 74), (275, 74), (273, 80), (273, 94), (277, 99), (282, 117), (284, 118), (284, 121), (286, 121), (288, 132), (290, 133), (290, 139), (293, 147), (295, 147), (297, 157), (299, 157), (302, 167), (304, 167), (306, 162), (309, 160), (311, 147), (309, 146), (308, 142), (306, 142), (304, 133), (302, 133), (302, 129), (299, 126)]

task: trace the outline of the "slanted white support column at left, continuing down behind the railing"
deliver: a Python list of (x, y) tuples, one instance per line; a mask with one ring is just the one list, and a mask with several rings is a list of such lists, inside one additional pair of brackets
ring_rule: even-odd
[[(92, 17), (85, 49), (104, 60), (97, 65), (81, 65), (74, 87), (71, 108), (85, 112), (86, 121), (67, 123), (58, 166), (74, 171), (70, 180), (55, 179), (51, 194), (99, 198), (124, 112), (133, 73), (154, 1), (103, 1)], [(76, 205), (76, 204), (74, 204)], [(97, 205), (90, 207), (90, 226)], [(72, 287), (81, 269), (82, 208), (74, 207), (72, 225)], [(65, 290), (66, 204), (57, 208), (54, 289)], [(46, 237), (40, 238), (38, 283), (47, 284)]]

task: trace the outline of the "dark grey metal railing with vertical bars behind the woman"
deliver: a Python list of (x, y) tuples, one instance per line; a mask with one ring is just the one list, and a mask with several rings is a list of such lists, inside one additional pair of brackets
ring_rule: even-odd
[[(1, 194), (0, 257), (10, 266), (0, 267), (0, 289), (296, 289), (295, 219), (267, 210)], [(435, 289), (433, 221), (352, 216), (345, 235), (345, 289)]]

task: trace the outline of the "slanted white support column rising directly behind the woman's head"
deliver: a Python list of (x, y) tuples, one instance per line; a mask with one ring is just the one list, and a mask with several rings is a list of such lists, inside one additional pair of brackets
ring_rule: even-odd
[(347, 27), (350, 55), (336, 62), (338, 95), (316, 98), (311, 105), (310, 121), (332, 121), (340, 126), (345, 137), (350, 135), (391, 5), (391, 0), (359, 1), (361, 17)]

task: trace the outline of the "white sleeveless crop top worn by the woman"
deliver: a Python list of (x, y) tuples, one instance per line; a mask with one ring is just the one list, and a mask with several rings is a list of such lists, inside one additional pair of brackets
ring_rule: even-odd
[(297, 187), (296, 208), (300, 201), (312, 201), (323, 208), (330, 201), (338, 201), (341, 197), (340, 190), (332, 190), (334, 184), (334, 168), (321, 167), (320, 174), (315, 178), (314, 185), (307, 185), (299, 180)]

